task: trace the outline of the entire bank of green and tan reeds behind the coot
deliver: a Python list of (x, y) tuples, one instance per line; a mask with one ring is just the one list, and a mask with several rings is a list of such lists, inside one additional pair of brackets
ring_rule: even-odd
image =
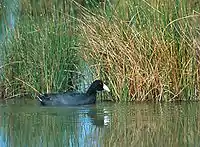
[(9, 96), (74, 89), (83, 59), (113, 101), (199, 99), (197, 0), (62, 2), (22, 1), (4, 46)]

